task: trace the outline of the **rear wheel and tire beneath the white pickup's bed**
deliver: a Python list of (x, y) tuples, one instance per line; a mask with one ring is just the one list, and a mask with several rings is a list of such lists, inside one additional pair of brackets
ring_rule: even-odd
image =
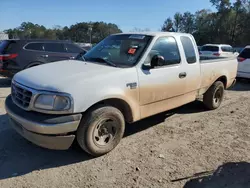
[(216, 81), (204, 94), (203, 103), (205, 106), (214, 110), (217, 109), (224, 97), (224, 84), (221, 81)]

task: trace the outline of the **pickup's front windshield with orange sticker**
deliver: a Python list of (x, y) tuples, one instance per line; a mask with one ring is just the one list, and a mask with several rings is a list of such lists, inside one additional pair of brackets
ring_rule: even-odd
[(85, 55), (79, 54), (76, 59), (109, 65), (113, 63), (116, 66), (133, 66), (138, 62), (151, 38), (151, 36), (134, 34), (111, 35)]

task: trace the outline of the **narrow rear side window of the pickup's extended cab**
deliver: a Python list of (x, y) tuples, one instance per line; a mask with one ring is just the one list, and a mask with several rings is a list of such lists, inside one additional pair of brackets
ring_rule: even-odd
[(181, 37), (181, 43), (184, 48), (186, 60), (189, 64), (195, 63), (196, 60), (196, 53), (194, 49), (194, 45), (192, 43), (192, 40), (189, 37), (182, 36)]

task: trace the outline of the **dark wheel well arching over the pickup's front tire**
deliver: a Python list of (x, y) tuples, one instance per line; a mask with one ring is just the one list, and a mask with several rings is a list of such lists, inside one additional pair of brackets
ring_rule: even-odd
[(103, 101), (100, 101), (100, 102), (94, 104), (89, 109), (92, 109), (93, 107), (95, 107), (97, 105), (100, 105), (100, 104), (102, 104), (102, 105), (103, 104), (104, 105), (110, 105), (110, 106), (113, 106), (113, 107), (119, 109), (122, 112), (122, 114), (123, 114), (123, 116), (125, 118), (125, 121), (127, 123), (133, 122), (132, 110), (131, 110), (129, 104), (126, 101), (124, 101), (122, 99), (116, 99), (116, 98), (105, 99)]

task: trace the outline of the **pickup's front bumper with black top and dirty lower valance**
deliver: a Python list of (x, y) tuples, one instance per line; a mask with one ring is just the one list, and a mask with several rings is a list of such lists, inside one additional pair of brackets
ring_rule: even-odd
[(32, 143), (55, 150), (68, 149), (74, 139), (74, 132), (81, 121), (81, 114), (48, 115), (27, 112), (17, 107), (8, 96), (5, 109), (11, 126)]

